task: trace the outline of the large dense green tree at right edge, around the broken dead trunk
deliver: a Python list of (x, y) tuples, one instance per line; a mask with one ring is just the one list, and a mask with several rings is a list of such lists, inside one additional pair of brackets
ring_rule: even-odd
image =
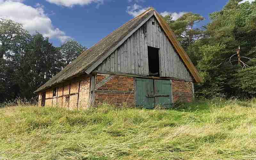
[[(204, 83), (196, 86), (197, 93), (204, 96), (217, 94), (226, 94), (229, 97), (253, 96), (254, 92), (248, 92), (254, 90), (250, 85), (253, 82), (252, 77), (243, 71), (245, 69), (243, 64), (240, 64), (232, 55), (236, 54), (235, 49), (240, 45), (241, 57), (247, 57), (243, 59), (243, 62), (248, 67), (255, 66), (255, 10), (255, 2), (240, 3), (240, 0), (229, 0), (221, 11), (210, 14), (211, 22), (208, 23), (204, 32), (207, 36), (198, 40), (195, 44), (199, 45), (194, 48), (197, 68), (207, 75)], [(222, 45), (222, 49), (217, 50), (217, 54), (213, 57), (204, 56), (204, 53), (216, 51), (219, 45)], [(252, 69), (247, 66), (246, 71), (252, 73)], [(212, 67), (214, 69), (211, 69)], [(245, 77), (241, 78), (242, 76)], [(248, 94), (243, 94), (244, 91)]]

